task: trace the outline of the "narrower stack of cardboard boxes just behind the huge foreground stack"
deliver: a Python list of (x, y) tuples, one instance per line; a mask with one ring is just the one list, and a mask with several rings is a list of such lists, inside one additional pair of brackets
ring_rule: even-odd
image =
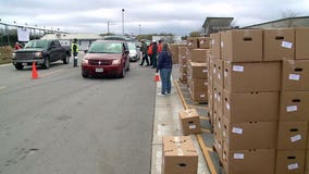
[[(208, 101), (208, 66), (210, 38), (189, 38), (187, 46), (190, 54), (187, 61), (187, 80), (191, 99), (196, 102)], [(193, 47), (194, 46), (194, 47)]]

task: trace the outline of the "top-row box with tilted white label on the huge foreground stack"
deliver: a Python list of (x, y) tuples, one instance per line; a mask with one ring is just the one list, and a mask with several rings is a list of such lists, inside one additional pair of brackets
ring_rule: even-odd
[(264, 61), (294, 59), (294, 28), (264, 29), (263, 33)]

